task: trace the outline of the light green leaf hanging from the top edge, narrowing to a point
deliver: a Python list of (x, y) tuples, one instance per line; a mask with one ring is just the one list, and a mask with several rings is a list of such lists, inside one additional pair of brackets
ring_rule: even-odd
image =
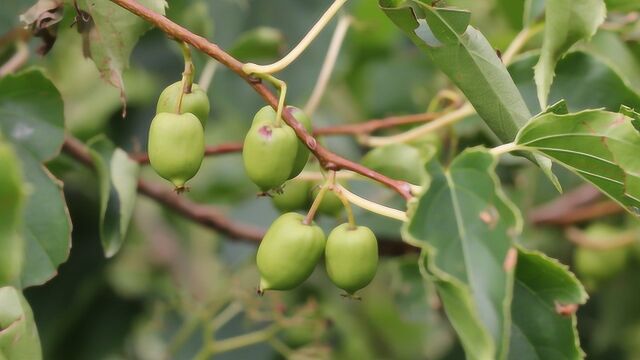
[(542, 54), (535, 67), (540, 108), (547, 107), (556, 63), (580, 40), (589, 39), (604, 21), (602, 0), (553, 0), (545, 6)]

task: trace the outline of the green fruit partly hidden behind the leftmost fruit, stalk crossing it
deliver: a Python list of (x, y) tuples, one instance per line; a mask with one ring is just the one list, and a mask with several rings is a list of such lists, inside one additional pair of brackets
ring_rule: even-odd
[(193, 84), (191, 86), (191, 92), (182, 96), (182, 106), (180, 106), (178, 111), (177, 106), (181, 92), (182, 81), (177, 81), (167, 86), (162, 93), (160, 93), (160, 97), (158, 97), (156, 113), (192, 113), (200, 120), (204, 128), (209, 119), (209, 111), (211, 110), (207, 93), (202, 90), (198, 84)]

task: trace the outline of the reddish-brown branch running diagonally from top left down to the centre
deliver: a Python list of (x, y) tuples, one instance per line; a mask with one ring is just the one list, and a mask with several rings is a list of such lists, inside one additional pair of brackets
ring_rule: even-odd
[[(192, 45), (196, 49), (202, 51), (203, 53), (209, 55), (210, 57), (216, 59), (219, 63), (226, 66), (231, 71), (235, 72), (238, 76), (243, 78), (269, 105), (271, 105), (271, 107), (273, 107), (274, 109), (277, 108), (278, 98), (271, 92), (271, 90), (269, 90), (269, 88), (260, 80), (245, 74), (245, 72), (242, 70), (242, 66), (244, 64), (220, 49), (220, 47), (218, 47), (216, 44), (209, 42), (202, 36), (193, 34), (189, 30), (174, 23), (164, 16), (145, 8), (134, 0), (111, 1), (157, 26), (160, 30), (162, 30), (169, 36), (180, 41), (184, 41)], [(313, 136), (307, 133), (304, 126), (302, 126), (302, 124), (300, 124), (291, 115), (291, 112), (287, 108), (283, 110), (282, 116), (287, 125), (293, 128), (296, 135), (309, 148), (309, 150), (313, 152), (313, 154), (318, 158), (324, 168), (329, 170), (347, 169), (357, 172), (363, 176), (366, 176), (388, 186), (405, 199), (411, 199), (411, 188), (406, 182), (388, 178), (365, 166), (342, 158), (322, 147), (320, 144), (318, 144), (318, 141)]]

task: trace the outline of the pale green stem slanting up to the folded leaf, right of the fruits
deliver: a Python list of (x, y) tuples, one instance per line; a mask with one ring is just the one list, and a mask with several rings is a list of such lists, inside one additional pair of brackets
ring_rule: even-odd
[(438, 130), (445, 126), (449, 126), (459, 120), (464, 119), (469, 115), (472, 115), (473, 113), (475, 113), (475, 109), (473, 108), (473, 106), (470, 103), (466, 103), (462, 107), (452, 112), (446, 113), (431, 122), (413, 128), (409, 131), (391, 136), (365, 136), (361, 138), (361, 142), (363, 145), (370, 147), (409, 142), (418, 139), (432, 131)]

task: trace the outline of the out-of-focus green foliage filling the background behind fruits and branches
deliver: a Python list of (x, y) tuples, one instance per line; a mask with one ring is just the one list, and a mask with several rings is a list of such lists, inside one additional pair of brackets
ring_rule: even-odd
[[(472, 24), (496, 49), (504, 50), (523, 22), (529, 21), (525, 1), (447, 3), (471, 10)], [(531, 19), (541, 9), (540, 1), (532, 3)], [(611, 1), (609, 5), (637, 10), (633, 3)], [(0, 32), (4, 33), (15, 24), (15, 14), (30, 4), (23, 0), (2, 4)], [(320, 0), (176, 0), (169, 1), (167, 16), (241, 60), (266, 63), (294, 45), (328, 4)], [(30, 62), (44, 68), (62, 93), (71, 133), (89, 139), (104, 132), (129, 152), (144, 151), (155, 100), (165, 86), (180, 78), (178, 46), (158, 30), (140, 40), (131, 68), (124, 74), (128, 113), (123, 119), (118, 90), (101, 81), (94, 64), (82, 56), (82, 39), (71, 27), (73, 16), (68, 16), (73, 11), (65, 7), (52, 51), (45, 57), (33, 56)], [(354, 22), (329, 90), (314, 116), (315, 126), (423, 112), (438, 90), (450, 87), (427, 57), (378, 10), (376, 1), (353, 0), (347, 12)], [(554, 98), (567, 98), (572, 111), (597, 107), (615, 111), (621, 103), (640, 108), (640, 25), (638, 21), (617, 21), (624, 15), (609, 16), (609, 29), (601, 30), (592, 43), (560, 62), (550, 103)], [(280, 74), (288, 83), (290, 104), (302, 107), (311, 94), (334, 26), (335, 21)], [(531, 48), (539, 40), (534, 39)], [(0, 60), (6, 56), (0, 54)], [(531, 70), (536, 58), (535, 51), (525, 53), (509, 68), (533, 113), (539, 110)], [(205, 67), (215, 66), (207, 65), (202, 54), (195, 55), (195, 61), (198, 75)], [(215, 68), (208, 93), (212, 114), (207, 143), (242, 140), (262, 100), (222, 67)], [(359, 160), (366, 153), (349, 137), (324, 141), (350, 159)], [(482, 122), (470, 117), (430, 143), (441, 150), (455, 143), (461, 149), (495, 142)], [(445, 156), (447, 151), (438, 154)], [(321, 267), (302, 288), (259, 298), (255, 295), (254, 244), (225, 238), (143, 197), (138, 199), (122, 250), (104, 259), (95, 175), (64, 154), (48, 166), (65, 183), (74, 229), (70, 259), (59, 268), (58, 276), (25, 291), (47, 359), (160, 359), (167, 354), (191, 359), (207, 355), (203, 352), (207, 337), (222, 340), (254, 332), (266, 334), (268, 340), (216, 357), (464, 357), (430, 284), (419, 274), (415, 255), (383, 258), (361, 302), (342, 298)], [(519, 159), (509, 158), (498, 171), (525, 216), (558, 196), (540, 171)], [(558, 175), (565, 191), (581, 184), (568, 172), (558, 170)], [(150, 169), (143, 171), (143, 177), (159, 181)], [(266, 227), (278, 214), (268, 199), (256, 198), (255, 186), (244, 175), (238, 154), (206, 158), (191, 186), (185, 196), (219, 206), (238, 221)], [(378, 185), (350, 181), (349, 186), (375, 201), (401, 206), (399, 199)], [(399, 240), (398, 222), (361, 211), (356, 218), (379, 237)], [(324, 217), (320, 223), (330, 229), (342, 220)], [(570, 265), (588, 287), (591, 298), (578, 312), (578, 326), (589, 358), (640, 359), (637, 222), (628, 215), (612, 215), (579, 224), (573, 232), (549, 226), (525, 229), (523, 243)], [(631, 234), (634, 240), (611, 250), (584, 249), (568, 241), (579, 236), (606, 242), (620, 234)]]

